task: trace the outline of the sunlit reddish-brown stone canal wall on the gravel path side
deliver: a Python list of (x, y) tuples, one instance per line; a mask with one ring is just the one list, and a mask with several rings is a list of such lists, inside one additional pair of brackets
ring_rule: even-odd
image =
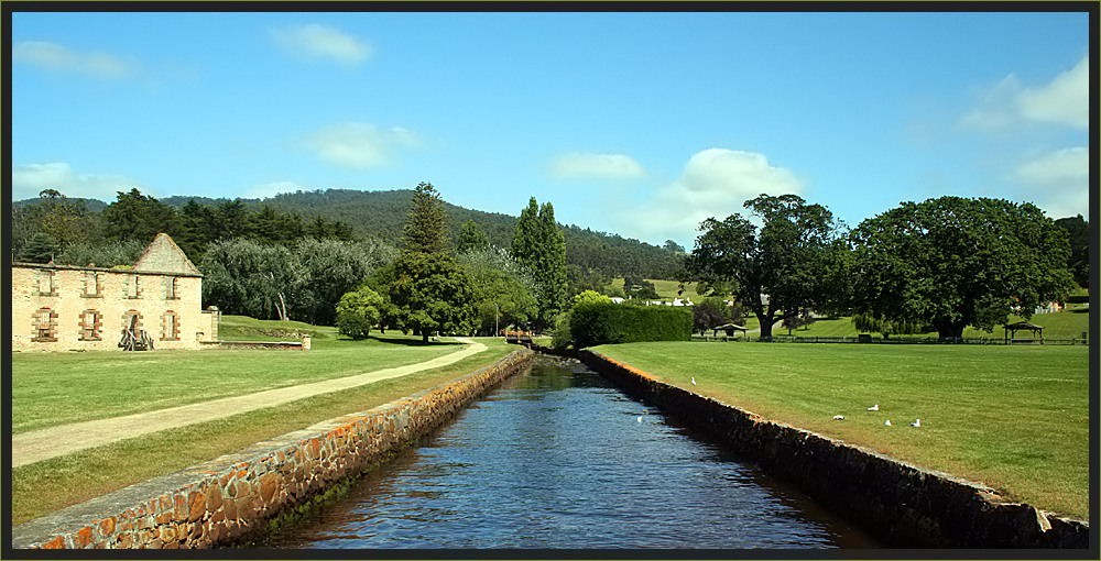
[(244, 539), (430, 433), (533, 358), (521, 348), (404, 399), (28, 521), (12, 529), (12, 548), (209, 548)]

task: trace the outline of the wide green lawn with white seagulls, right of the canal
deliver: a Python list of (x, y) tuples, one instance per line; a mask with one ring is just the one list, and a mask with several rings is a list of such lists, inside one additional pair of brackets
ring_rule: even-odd
[[(1089, 518), (1086, 346), (654, 342), (593, 350), (765, 418)], [(873, 404), (881, 410), (866, 411)], [(922, 428), (911, 427), (917, 418)]]

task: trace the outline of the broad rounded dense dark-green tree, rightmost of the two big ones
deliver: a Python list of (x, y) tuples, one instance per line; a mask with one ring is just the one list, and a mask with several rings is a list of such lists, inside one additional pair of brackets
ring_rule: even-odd
[(1073, 287), (1067, 235), (1032, 204), (940, 197), (852, 231), (853, 309), (877, 321), (928, 323), (942, 339), (1029, 318)]

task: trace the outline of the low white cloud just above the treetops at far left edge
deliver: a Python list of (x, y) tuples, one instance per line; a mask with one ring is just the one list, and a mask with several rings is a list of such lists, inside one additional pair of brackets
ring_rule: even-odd
[(56, 189), (72, 198), (91, 198), (110, 202), (118, 191), (145, 188), (121, 176), (78, 174), (66, 163), (31, 164), (11, 169), (12, 200), (37, 197), (45, 189)]

